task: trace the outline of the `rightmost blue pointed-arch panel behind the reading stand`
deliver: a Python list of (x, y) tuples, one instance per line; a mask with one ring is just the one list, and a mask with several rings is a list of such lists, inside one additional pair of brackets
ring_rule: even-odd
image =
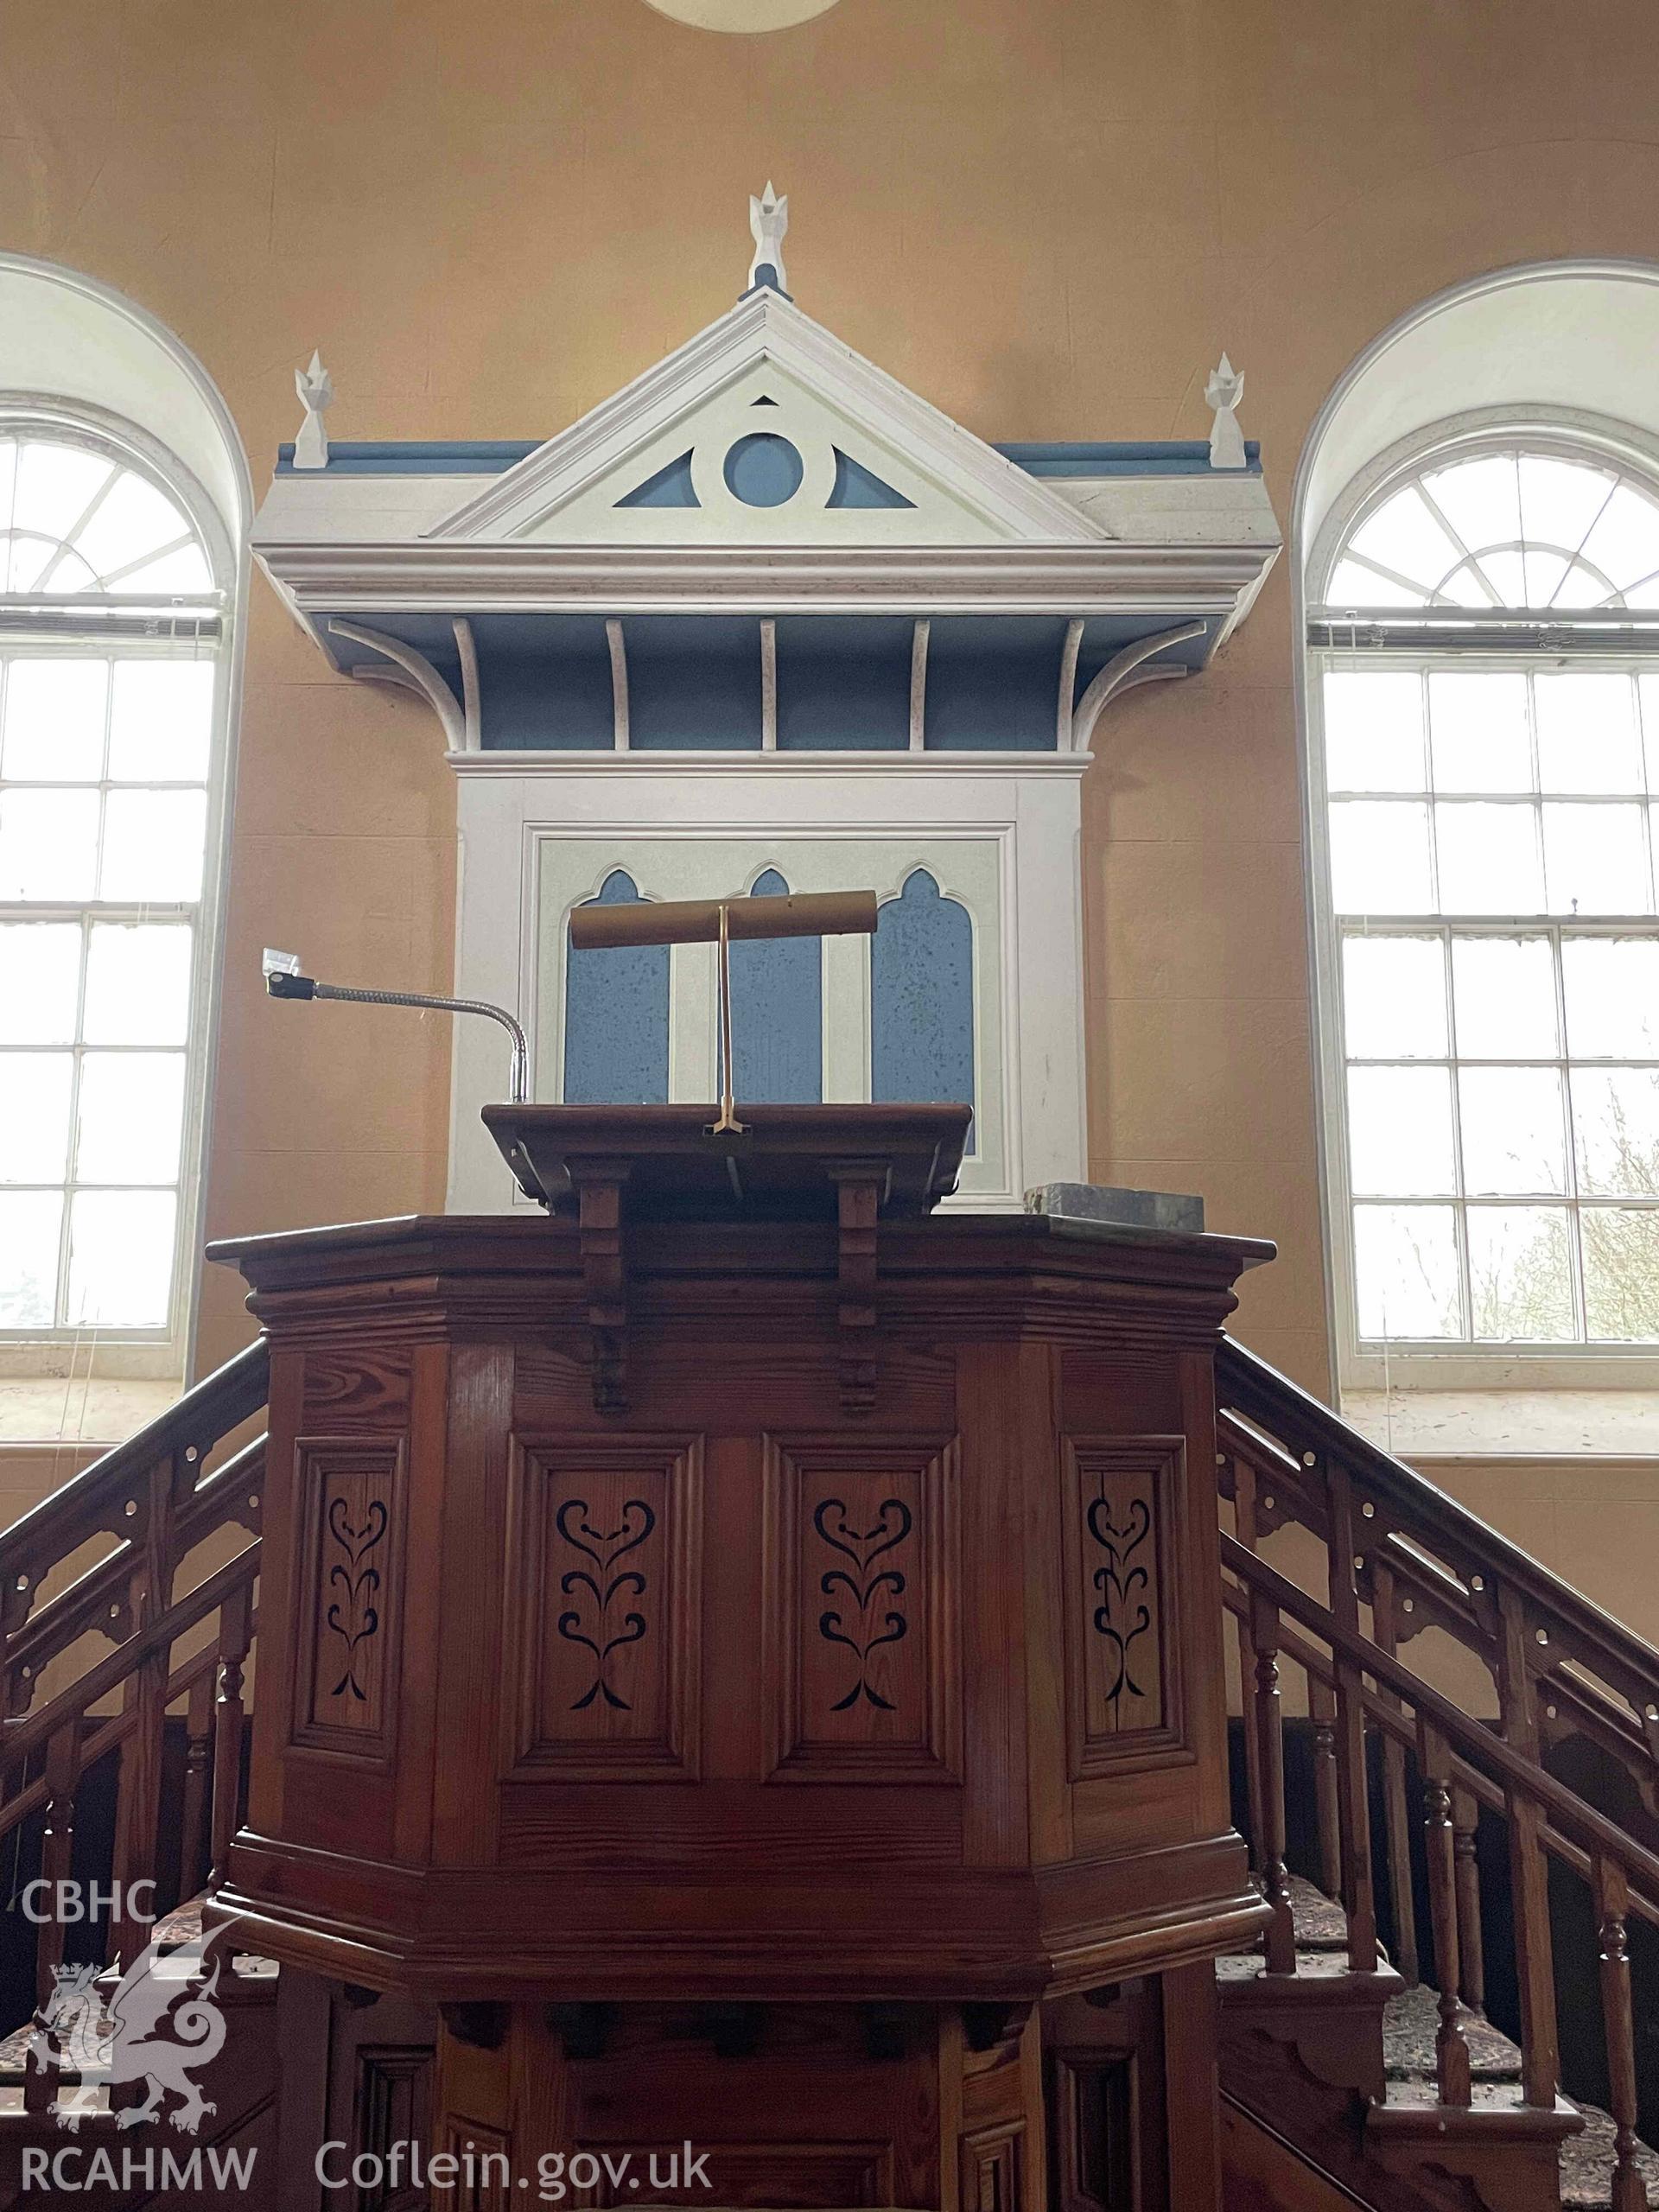
[(925, 867), (876, 918), (869, 998), (869, 1095), (971, 1106), (973, 925)]

